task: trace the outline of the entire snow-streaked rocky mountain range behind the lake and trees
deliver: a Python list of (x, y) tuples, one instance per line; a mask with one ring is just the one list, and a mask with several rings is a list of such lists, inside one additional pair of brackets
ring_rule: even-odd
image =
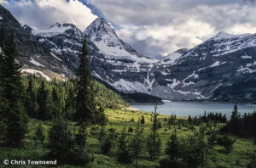
[(15, 31), (24, 69), (74, 76), (86, 36), (93, 76), (121, 92), (145, 92), (172, 100), (256, 100), (256, 34), (220, 32), (195, 48), (156, 60), (137, 53), (102, 18), (83, 32), (60, 23), (47, 30), (22, 27), (1, 5), (0, 15), (1, 46)]

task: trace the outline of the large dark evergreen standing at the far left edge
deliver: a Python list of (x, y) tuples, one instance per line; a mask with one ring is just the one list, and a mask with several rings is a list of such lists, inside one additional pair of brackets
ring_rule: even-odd
[(4, 64), (1, 73), (2, 97), (7, 106), (4, 106), (3, 116), (6, 118), (6, 143), (9, 146), (20, 146), (27, 131), (28, 117), (24, 109), (24, 87), (21, 82), (18, 62), (19, 53), (15, 45), (14, 34), (5, 42), (1, 59)]

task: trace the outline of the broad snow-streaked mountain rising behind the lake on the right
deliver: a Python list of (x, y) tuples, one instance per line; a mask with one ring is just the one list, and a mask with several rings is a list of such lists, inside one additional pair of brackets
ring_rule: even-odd
[[(161, 65), (163, 66), (163, 65)], [(161, 68), (163, 69), (163, 68)], [(159, 70), (161, 70), (159, 69)], [(235, 89), (241, 82), (250, 83), (256, 72), (256, 34), (230, 35), (220, 32), (206, 42), (183, 53), (168, 67), (164, 86), (177, 92), (198, 93), (204, 98), (221, 98), (218, 88)], [(249, 80), (252, 79), (252, 80)], [(253, 90), (243, 90), (239, 98), (255, 100)], [(222, 92), (224, 94), (224, 92)], [(252, 96), (252, 97), (251, 97)]]

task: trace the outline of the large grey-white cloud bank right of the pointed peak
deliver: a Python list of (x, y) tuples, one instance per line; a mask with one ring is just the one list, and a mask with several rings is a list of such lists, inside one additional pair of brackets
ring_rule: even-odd
[[(147, 56), (193, 48), (219, 31), (255, 33), (253, 0), (89, 0)], [(250, 5), (248, 5), (250, 4)]]

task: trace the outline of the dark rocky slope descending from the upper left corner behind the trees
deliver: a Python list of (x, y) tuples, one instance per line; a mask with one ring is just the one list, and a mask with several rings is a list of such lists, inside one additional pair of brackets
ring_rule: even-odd
[(0, 16), (0, 47), (3, 47), (3, 43), (14, 33), (15, 42), (20, 52), (19, 61), (25, 64), (26, 68), (37, 66), (66, 76), (73, 75), (73, 71), (69, 70), (67, 64), (56, 59), (49, 48), (27, 33), (27, 29), (25, 30), (2, 5), (0, 5)]

